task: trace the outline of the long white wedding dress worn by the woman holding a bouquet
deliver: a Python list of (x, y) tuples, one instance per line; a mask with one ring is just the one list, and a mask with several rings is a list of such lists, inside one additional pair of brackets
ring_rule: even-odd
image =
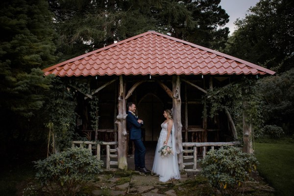
[(165, 157), (160, 156), (160, 150), (161, 147), (163, 147), (164, 141), (167, 139), (168, 134), (168, 123), (162, 123), (161, 124), (161, 132), (158, 138), (156, 150), (155, 150), (155, 156), (154, 156), (154, 162), (152, 167), (152, 172), (159, 175), (159, 180), (161, 182), (166, 182), (172, 178), (174, 179), (180, 179), (181, 175), (179, 172), (179, 166), (177, 161), (177, 153), (175, 149), (175, 139), (174, 139), (174, 127), (172, 124), (172, 133), (170, 135), (169, 141), (167, 146), (172, 147), (173, 154), (170, 154)]

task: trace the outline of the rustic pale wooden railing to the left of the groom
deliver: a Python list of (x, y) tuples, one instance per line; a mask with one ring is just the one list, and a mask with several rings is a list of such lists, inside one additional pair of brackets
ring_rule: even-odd
[(118, 145), (118, 142), (89, 142), (89, 141), (73, 141), (72, 147), (75, 145), (79, 145), (79, 147), (83, 147), (83, 145), (88, 145), (88, 149), (92, 152), (92, 146), (97, 146), (97, 160), (101, 160), (100, 149), (101, 145), (106, 146), (106, 170), (110, 169), (110, 165), (118, 165), (118, 161), (110, 161), (110, 158), (118, 158), (117, 149), (111, 149), (110, 146)]

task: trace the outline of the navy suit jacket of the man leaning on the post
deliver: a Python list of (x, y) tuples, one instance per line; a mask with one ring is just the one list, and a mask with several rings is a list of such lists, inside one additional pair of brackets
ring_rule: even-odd
[(138, 123), (137, 117), (128, 111), (126, 117), (126, 128), (130, 134), (130, 140), (141, 139), (141, 126), (142, 124)]

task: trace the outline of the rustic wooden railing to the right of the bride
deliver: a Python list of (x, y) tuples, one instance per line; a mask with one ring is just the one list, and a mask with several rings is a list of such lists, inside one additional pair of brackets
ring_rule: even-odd
[[(210, 147), (210, 149), (214, 149), (214, 147), (220, 147), (223, 148), (224, 146), (232, 146), (232, 145), (238, 145), (239, 142), (186, 142), (182, 143), (183, 148), (184, 147), (193, 147), (193, 149), (183, 149), (183, 160), (187, 159), (193, 159), (193, 162), (184, 162), (184, 166), (193, 165), (193, 169), (184, 169), (184, 171), (187, 172), (195, 172), (200, 171), (200, 169), (197, 169), (197, 147), (202, 147), (202, 157), (204, 158), (206, 155), (207, 148)], [(191, 154), (193, 155), (185, 155), (185, 154)]]

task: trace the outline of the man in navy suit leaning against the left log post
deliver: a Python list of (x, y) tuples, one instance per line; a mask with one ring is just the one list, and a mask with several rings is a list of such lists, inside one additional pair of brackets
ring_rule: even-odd
[(134, 103), (127, 103), (127, 109), (126, 127), (130, 133), (130, 140), (134, 142), (135, 146), (135, 170), (148, 173), (150, 170), (145, 167), (146, 148), (141, 139), (143, 121), (135, 115), (136, 105)]

